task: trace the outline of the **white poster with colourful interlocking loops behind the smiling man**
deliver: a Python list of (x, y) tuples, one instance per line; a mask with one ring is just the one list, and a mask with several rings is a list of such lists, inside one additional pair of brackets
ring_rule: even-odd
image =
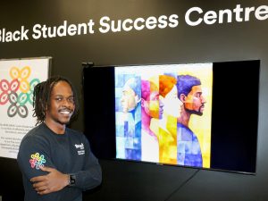
[(17, 158), (21, 139), (35, 126), (33, 88), (48, 78), (50, 60), (0, 60), (0, 156)]

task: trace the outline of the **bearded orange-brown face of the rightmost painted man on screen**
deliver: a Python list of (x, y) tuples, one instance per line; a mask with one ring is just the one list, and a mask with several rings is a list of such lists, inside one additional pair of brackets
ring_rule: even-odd
[(205, 98), (202, 96), (201, 85), (194, 86), (188, 93), (188, 96), (185, 96), (184, 106), (189, 113), (195, 113), (197, 115), (203, 114)]

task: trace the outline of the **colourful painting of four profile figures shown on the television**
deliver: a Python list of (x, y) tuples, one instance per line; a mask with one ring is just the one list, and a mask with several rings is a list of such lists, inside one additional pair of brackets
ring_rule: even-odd
[(210, 167), (213, 63), (115, 68), (116, 158)]

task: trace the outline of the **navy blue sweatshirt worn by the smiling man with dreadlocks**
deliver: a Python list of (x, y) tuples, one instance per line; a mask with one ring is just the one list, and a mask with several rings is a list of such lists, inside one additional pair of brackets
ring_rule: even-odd
[[(84, 134), (68, 128), (64, 134), (56, 134), (45, 123), (41, 123), (29, 130), (21, 140), (17, 161), (22, 173), (25, 201), (81, 201), (82, 191), (95, 188), (102, 180), (101, 167), (90, 151), (88, 139)], [(40, 170), (42, 165), (74, 174), (75, 185), (47, 195), (38, 195), (29, 180), (47, 174)]]

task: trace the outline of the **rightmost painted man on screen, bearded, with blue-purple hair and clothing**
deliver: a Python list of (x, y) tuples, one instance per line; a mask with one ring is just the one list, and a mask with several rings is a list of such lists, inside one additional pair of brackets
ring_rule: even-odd
[(195, 133), (188, 128), (192, 114), (201, 116), (205, 107), (201, 81), (194, 76), (179, 75), (177, 79), (178, 96), (183, 103), (177, 123), (177, 160), (181, 165), (202, 167), (202, 153)]

